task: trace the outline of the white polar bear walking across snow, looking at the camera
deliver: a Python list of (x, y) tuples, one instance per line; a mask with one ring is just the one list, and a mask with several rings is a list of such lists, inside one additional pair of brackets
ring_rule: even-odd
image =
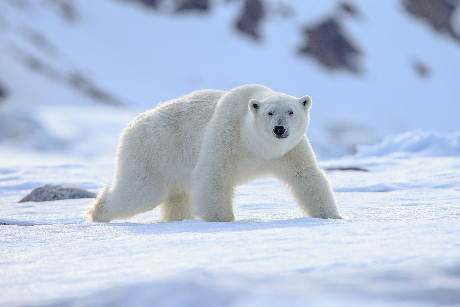
[(112, 186), (90, 220), (127, 219), (161, 204), (161, 220), (233, 221), (234, 189), (274, 175), (308, 216), (342, 219), (305, 133), (310, 96), (251, 84), (200, 90), (138, 115), (123, 131)]

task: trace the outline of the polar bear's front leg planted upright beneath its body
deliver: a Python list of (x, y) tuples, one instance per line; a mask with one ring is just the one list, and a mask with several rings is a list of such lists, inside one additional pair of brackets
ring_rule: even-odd
[[(202, 163), (201, 163), (202, 162)], [(198, 162), (194, 170), (192, 203), (196, 215), (207, 222), (235, 220), (232, 208), (233, 186), (228, 174), (213, 166), (212, 162)]]

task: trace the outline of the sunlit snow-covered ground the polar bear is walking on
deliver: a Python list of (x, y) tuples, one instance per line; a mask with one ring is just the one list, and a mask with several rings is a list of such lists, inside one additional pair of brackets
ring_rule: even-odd
[[(432, 147), (458, 148), (456, 137), (431, 137)], [(0, 222), (11, 224), (0, 226), (2, 306), (459, 306), (460, 157), (321, 166), (368, 169), (328, 171), (346, 220), (303, 217), (269, 178), (238, 188), (235, 222), (161, 223), (154, 209), (89, 223), (90, 199), (17, 201), (47, 183), (97, 191), (113, 165), (1, 168)]]

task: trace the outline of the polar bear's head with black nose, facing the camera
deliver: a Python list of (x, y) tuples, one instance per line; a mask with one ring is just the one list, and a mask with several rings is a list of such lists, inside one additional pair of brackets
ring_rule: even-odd
[(253, 127), (264, 136), (265, 142), (279, 147), (284, 154), (307, 132), (311, 103), (310, 96), (295, 98), (277, 93), (262, 100), (251, 99), (248, 108)]

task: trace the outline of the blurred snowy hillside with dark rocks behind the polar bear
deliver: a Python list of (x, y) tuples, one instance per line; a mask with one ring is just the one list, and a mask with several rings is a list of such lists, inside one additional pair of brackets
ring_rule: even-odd
[(459, 130), (459, 71), (455, 0), (0, 0), (0, 158), (109, 159), (139, 112), (246, 83), (311, 95), (342, 156)]

